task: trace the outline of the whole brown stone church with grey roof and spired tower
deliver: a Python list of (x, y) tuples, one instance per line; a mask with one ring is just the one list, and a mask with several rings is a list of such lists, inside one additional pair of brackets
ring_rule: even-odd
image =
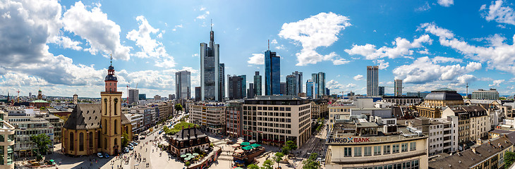
[(100, 104), (77, 104), (63, 125), (61, 142), (63, 154), (81, 156), (104, 152), (119, 154), (122, 134), (133, 139), (131, 120), (121, 113), (121, 92), (114, 67), (109, 65), (105, 91), (100, 92)]

